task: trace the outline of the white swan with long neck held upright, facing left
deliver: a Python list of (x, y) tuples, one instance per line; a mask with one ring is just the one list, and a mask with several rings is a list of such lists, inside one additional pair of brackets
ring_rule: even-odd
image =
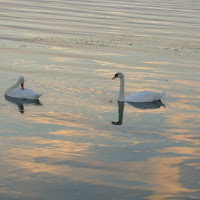
[(118, 101), (125, 102), (153, 102), (158, 101), (165, 92), (142, 91), (124, 98), (124, 74), (118, 72), (112, 79), (120, 78), (120, 91)]

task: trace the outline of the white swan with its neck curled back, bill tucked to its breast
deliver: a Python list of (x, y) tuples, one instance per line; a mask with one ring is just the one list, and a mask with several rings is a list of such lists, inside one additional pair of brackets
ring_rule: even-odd
[[(21, 88), (19, 87), (21, 85)], [(42, 94), (24, 88), (24, 77), (20, 76), (17, 83), (5, 91), (5, 96), (18, 99), (38, 99)]]

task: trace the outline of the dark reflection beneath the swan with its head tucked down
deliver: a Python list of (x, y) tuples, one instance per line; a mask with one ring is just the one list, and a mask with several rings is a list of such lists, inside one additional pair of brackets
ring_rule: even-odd
[(19, 112), (24, 113), (24, 104), (35, 105), (35, 106), (42, 106), (38, 99), (18, 99), (13, 97), (5, 96), (5, 99), (11, 103), (14, 103), (18, 106)]

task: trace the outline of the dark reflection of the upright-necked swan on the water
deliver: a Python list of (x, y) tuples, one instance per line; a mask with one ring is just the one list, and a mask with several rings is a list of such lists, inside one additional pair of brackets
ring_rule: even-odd
[[(160, 107), (165, 107), (165, 105), (162, 103), (162, 101), (154, 101), (154, 102), (145, 102), (145, 103), (134, 103), (134, 102), (127, 102), (129, 105), (141, 109), (158, 109)], [(119, 118), (117, 122), (112, 122), (113, 125), (122, 125), (123, 123), (123, 114), (124, 114), (124, 102), (118, 101), (118, 114)]]

